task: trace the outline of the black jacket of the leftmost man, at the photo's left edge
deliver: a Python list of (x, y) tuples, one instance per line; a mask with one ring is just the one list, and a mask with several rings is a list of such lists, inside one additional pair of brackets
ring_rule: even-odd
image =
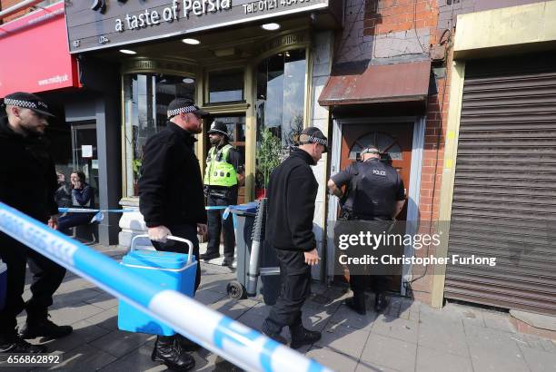
[(58, 182), (44, 137), (24, 137), (0, 114), (0, 201), (45, 222), (58, 213)]

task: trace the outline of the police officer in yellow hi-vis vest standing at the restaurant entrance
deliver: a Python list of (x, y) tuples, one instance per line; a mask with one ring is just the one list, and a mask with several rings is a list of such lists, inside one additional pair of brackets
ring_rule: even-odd
[[(204, 171), (204, 192), (206, 205), (223, 207), (237, 204), (237, 191), (243, 182), (242, 154), (229, 142), (226, 125), (213, 122), (208, 131), (209, 141), (213, 146), (206, 157)], [(234, 235), (233, 220), (222, 218), (224, 210), (208, 210), (208, 246), (201, 259), (209, 260), (220, 257), (220, 230), (223, 228), (224, 259), (223, 266), (233, 263)]]

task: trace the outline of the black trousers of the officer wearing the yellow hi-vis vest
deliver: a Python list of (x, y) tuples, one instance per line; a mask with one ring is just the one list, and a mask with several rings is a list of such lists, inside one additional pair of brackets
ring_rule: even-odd
[[(210, 193), (206, 200), (206, 205), (209, 207), (235, 205), (236, 203), (237, 196), (235, 198), (220, 198)], [(230, 213), (228, 218), (224, 220), (222, 218), (223, 211), (224, 210), (207, 210), (209, 241), (206, 247), (206, 253), (220, 253), (220, 231), (223, 230), (224, 257), (226, 259), (233, 259), (233, 250), (235, 248), (233, 216)]]

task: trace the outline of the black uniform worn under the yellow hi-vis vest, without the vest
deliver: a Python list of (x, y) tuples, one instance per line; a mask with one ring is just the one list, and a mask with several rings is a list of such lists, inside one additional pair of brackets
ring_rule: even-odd
[[(219, 149), (223, 146), (219, 146)], [(216, 152), (222, 153), (222, 152)], [(207, 159), (207, 162), (209, 160)], [(233, 165), (233, 169), (237, 173), (243, 170), (242, 154), (235, 148), (231, 148), (228, 152), (228, 157), (226, 162)], [(237, 204), (237, 193), (239, 186), (238, 184), (232, 187), (225, 186), (204, 186), (204, 191), (206, 193), (206, 205), (209, 207), (218, 206), (225, 207), (228, 205)], [(233, 219), (229, 216), (227, 219), (223, 219), (224, 210), (208, 210), (208, 236), (209, 241), (206, 247), (206, 253), (204, 257), (218, 257), (220, 255), (220, 231), (221, 227), (223, 229), (223, 246), (224, 246), (224, 259), (228, 263), (233, 261), (233, 251), (235, 248), (235, 235), (233, 232)]]

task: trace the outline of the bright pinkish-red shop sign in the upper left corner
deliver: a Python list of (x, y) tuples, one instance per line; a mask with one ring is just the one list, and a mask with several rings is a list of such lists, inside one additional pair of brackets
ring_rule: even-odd
[(79, 86), (77, 61), (69, 54), (64, 2), (0, 24), (0, 97)]

